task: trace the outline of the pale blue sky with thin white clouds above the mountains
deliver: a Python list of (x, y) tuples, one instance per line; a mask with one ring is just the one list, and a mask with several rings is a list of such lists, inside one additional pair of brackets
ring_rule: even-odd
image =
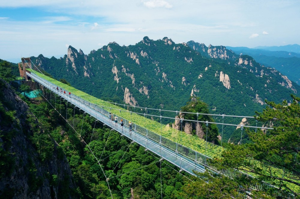
[(300, 44), (299, 0), (0, 0), (0, 59), (89, 54), (148, 36), (175, 43)]

